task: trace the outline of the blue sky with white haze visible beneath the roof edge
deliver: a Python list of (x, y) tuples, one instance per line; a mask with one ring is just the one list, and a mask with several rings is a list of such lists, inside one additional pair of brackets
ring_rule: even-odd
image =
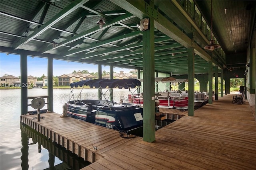
[[(53, 76), (72, 73), (74, 70), (88, 70), (88, 72), (98, 72), (97, 64), (86, 64), (71, 61), (53, 60)], [(110, 66), (102, 65), (102, 71), (110, 72)], [(114, 72), (124, 71), (128, 73), (131, 69), (114, 67)], [(20, 55), (0, 53), (0, 77), (4, 74), (20, 76)], [(28, 56), (28, 76), (47, 76), (47, 59)]]

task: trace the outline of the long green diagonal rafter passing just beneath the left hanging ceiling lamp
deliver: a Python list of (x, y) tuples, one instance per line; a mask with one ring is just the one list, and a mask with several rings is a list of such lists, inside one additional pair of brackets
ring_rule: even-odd
[[(119, 22), (122, 22), (122, 21), (126, 21), (126, 20), (129, 20), (131, 18), (134, 18), (134, 16), (130, 13), (128, 14), (124, 14), (122, 16), (118, 16), (116, 18), (114, 18), (113, 20), (111, 21), (108, 21), (108, 23), (106, 23), (104, 25), (104, 28), (107, 28), (107, 27), (111, 27), (112, 25), (116, 24), (116, 23), (119, 23)], [(95, 26), (91, 29), (88, 29), (80, 34), (77, 34), (77, 35), (74, 35), (73, 37), (70, 37), (69, 39), (66, 39), (65, 41), (62, 41), (61, 43), (58, 44), (58, 46), (56, 48), (59, 48), (59, 47), (62, 47), (63, 45), (66, 45), (68, 43), (72, 43), (74, 41), (77, 41), (83, 37), (86, 37), (88, 35), (91, 35), (92, 33), (96, 33), (97, 31), (100, 31), (102, 29), (100, 29), (98, 26)], [(46, 53), (47, 51), (53, 49), (53, 47), (49, 46), (45, 51), (42, 51), (42, 53)]]

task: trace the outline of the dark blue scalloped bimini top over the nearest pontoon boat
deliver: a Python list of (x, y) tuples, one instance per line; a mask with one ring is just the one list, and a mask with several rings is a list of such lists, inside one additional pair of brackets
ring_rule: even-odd
[(90, 88), (135, 88), (136, 86), (141, 86), (140, 80), (134, 79), (134, 78), (128, 78), (128, 79), (93, 79), (93, 80), (82, 80), (80, 82), (74, 82), (70, 83), (70, 87), (82, 87), (82, 86), (90, 86)]

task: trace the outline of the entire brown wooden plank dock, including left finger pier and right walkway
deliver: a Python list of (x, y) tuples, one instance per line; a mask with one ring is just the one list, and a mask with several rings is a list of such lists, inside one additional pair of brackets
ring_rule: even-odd
[[(245, 100), (246, 101), (246, 100)], [(23, 115), (21, 121), (98, 169), (256, 169), (256, 121), (248, 102), (224, 95), (156, 131), (154, 143), (59, 114)], [(255, 113), (254, 113), (255, 114)], [(95, 150), (94, 147), (98, 149)]]

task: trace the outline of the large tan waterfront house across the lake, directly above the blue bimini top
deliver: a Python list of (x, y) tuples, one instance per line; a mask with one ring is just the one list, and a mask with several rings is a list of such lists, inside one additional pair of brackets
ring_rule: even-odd
[(92, 80), (94, 78), (97, 78), (97, 77), (93, 76), (92, 74), (82, 73), (82, 72), (63, 74), (61, 76), (58, 76), (59, 86), (69, 86), (69, 84), (72, 82), (78, 82), (82, 80)]

